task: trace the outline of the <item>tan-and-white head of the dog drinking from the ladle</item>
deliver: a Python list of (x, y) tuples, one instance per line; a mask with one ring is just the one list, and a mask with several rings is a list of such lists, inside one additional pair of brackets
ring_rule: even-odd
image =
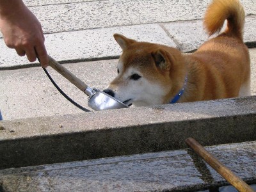
[(104, 92), (127, 105), (168, 103), (175, 84), (173, 78), (181, 75), (179, 70), (176, 74), (173, 72), (180, 63), (177, 60), (182, 58), (181, 53), (172, 47), (137, 42), (118, 34), (114, 38), (123, 52), (118, 61), (117, 76)]

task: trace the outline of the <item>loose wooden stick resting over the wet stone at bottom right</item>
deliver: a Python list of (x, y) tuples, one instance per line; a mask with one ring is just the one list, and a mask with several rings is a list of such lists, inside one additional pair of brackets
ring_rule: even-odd
[(218, 159), (216, 159), (212, 154), (207, 152), (202, 145), (200, 145), (195, 139), (187, 138), (186, 143), (192, 148), (196, 154), (198, 154), (204, 161), (206, 161), (216, 172), (220, 173), (220, 175), (226, 179), (232, 186), (234, 186), (238, 191), (241, 192), (253, 192), (254, 190), (244, 182), (244, 180), (240, 179), (234, 172), (229, 170), (224, 164), (220, 163)]

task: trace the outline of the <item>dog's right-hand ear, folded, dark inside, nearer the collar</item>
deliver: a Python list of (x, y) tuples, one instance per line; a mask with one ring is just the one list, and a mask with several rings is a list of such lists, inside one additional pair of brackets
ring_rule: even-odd
[(157, 67), (161, 68), (161, 70), (170, 70), (173, 58), (168, 52), (163, 49), (157, 49), (151, 55)]

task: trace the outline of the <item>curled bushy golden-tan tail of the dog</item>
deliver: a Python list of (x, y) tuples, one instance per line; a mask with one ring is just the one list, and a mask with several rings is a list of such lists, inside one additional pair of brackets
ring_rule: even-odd
[(239, 0), (213, 0), (205, 13), (204, 26), (209, 35), (213, 35), (220, 32), (227, 19), (224, 33), (243, 40), (244, 18), (244, 9)]

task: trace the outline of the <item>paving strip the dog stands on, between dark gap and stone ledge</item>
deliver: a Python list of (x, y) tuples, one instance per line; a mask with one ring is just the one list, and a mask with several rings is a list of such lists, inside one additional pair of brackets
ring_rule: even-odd
[[(256, 95), (256, 49), (250, 49), (252, 60), (252, 95)], [(116, 76), (117, 60), (70, 63), (64, 66), (90, 87), (100, 90)], [(69, 97), (84, 107), (88, 97), (73, 84), (48, 67), (49, 73)], [(82, 113), (52, 85), (40, 67), (0, 70), (0, 109), (3, 119)]]

